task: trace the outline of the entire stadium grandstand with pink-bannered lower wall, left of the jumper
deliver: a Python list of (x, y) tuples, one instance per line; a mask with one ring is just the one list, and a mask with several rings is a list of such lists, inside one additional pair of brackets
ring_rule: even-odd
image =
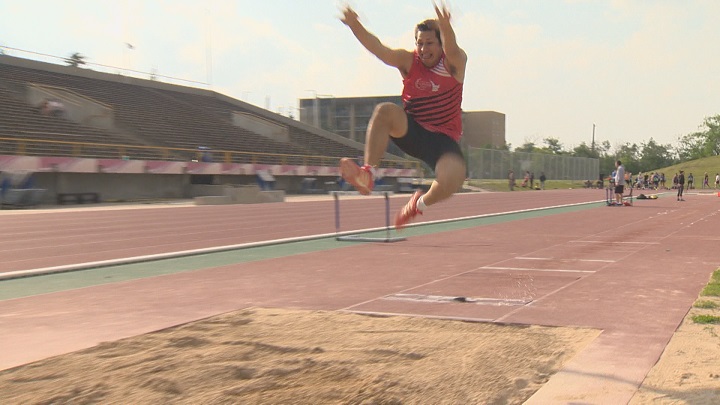
[[(338, 159), (363, 149), (211, 90), (0, 55), (0, 172), (5, 186), (31, 174), (24, 187), (44, 203), (194, 198), (220, 185), (327, 192)], [(379, 177), (399, 187), (419, 175), (416, 161), (386, 154)]]

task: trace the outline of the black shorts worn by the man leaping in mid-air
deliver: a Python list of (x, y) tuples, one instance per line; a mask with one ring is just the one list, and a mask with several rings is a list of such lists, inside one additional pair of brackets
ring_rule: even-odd
[(408, 132), (402, 138), (393, 138), (393, 143), (403, 152), (416, 157), (427, 163), (435, 170), (435, 165), (440, 157), (446, 153), (452, 153), (465, 160), (460, 145), (448, 135), (430, 132), (415, 122), (412, 116), (408, 115)]

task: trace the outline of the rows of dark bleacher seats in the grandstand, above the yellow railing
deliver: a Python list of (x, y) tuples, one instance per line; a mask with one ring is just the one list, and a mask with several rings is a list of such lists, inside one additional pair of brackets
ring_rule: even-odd
[[(361, 144), (209, 90), (42, 62), (5, 63), (14, 59), (0, 58), (0, 138), (53, 142), (27, 143), (18, 150), (18, 142), (0, 140), (0, 154), (120, 157), (117, 147), (101, 146), (109, 144), (128, 146), (132, 152), (124, 148), (122, 154), (133, 159), (189, 160), (196, 156), (193, 151), (203, 148), (212, 151), (217, 161), (232, 156), (234, 163), (303, 164), (302, 156), (363, 153)], [(115, 128), (92, 128), (41, 114), (25, 96), (32, 85), (53, 86), (110, 106)], [(234, 112), (262, 114), (263, 119), (287, 127), (288, 142), (234, 125)], [(175, 151), (161, 154), (159, 149), (141, 149), (144, 146)]]

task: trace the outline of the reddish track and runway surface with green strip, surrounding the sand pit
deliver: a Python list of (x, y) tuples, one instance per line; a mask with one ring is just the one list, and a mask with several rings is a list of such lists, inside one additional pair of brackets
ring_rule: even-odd
[[(391, 198), (391, 212), (407, 198)], [(528, 403), (626, 403), (720, 266), (720, 198), (668, 194), (633, 207), (603, 198), (459, 194), (396, 243), (336, 241), (330, 198), (2, 211), (0, 369), (289, 307), (600, 329)], [(384, 204), (341, 197), (341, 231), (382, 229)], [(96, 265), (16, 277), (84, 263)]]

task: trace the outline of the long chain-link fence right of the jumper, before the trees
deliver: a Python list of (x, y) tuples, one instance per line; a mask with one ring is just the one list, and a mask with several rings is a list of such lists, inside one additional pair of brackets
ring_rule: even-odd
[(468, 175), (471, 179), (506, 179), (510, 170), (515, 178), (525, 171), (549, 180), (597, 180), (600, 159), (550, 155), (547, 153), (510, 152), (496, 149), (468, 148)]

